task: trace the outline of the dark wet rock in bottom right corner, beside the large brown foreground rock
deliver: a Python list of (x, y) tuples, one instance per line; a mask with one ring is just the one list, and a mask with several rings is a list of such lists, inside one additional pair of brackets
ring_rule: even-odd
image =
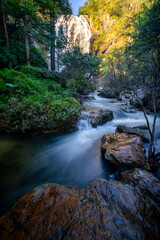
[(160, 236), (159, 179), (147, 171), (135, 169), (133, 172), (128, 171), (123, 173), (120, 180), (123, 183), (130, 184), (130, 186), (134, 188), (138, 204), (138, 214), (142, 219), (144, 227), (148, 231), (148, 237), (146, 239), (157, 239), (156, 236)]

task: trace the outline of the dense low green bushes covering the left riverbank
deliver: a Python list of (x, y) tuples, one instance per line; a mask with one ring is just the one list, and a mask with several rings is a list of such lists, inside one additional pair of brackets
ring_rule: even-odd
[(73, 129), (79, 103), (69, 94), (42, 69), (24, 66), (20, 71), (0, 71), (0, 130), (59, 133)]

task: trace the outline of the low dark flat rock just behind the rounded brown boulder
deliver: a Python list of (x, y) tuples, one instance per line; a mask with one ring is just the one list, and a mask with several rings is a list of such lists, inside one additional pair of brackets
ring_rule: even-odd
[(149, 143), (149, 137), (147, 133), (143, 130), (136, 128), (129, 128), (122, 125), (118, 125), (116, 128), (116, 133), (127, 133), (141, 137), (143, 142)]

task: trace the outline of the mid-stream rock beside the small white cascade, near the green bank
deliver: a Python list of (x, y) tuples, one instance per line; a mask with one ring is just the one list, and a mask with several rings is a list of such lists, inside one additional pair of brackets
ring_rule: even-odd
[(113, 112), (108, 110), (92, 111), (89, 113), (84, 113), (82, 118), (89, 118), (92, 127), (97, 127), (98, 125), (103, 125), (108, 121), (113, 119)]

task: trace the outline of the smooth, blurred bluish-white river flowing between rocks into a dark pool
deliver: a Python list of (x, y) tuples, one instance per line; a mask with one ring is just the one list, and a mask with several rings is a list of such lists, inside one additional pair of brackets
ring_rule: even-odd
[[(63, 136), (0, 136), (0, 214), (32, 188), (43, 183), (85, 187), (95, 178), (114, 178), (101, 160), (101, 138), (114, 133), (121, 124), (129, 127), (146, 124), (143, 113), (130, 109), (126, 100), (118, 102), (90, 94), (85, 111), (108, 109), (114, 119), (92, 128), (80, 120), (78, 130)], [(152, 121), (152, 114), (148, 115)], [(160, 151), (160, 117), (157, 119), (156, 147)], [(146, 148), (148, 146), (146, 145)], [(159, 173), (158, 173), (159, 174)]]

